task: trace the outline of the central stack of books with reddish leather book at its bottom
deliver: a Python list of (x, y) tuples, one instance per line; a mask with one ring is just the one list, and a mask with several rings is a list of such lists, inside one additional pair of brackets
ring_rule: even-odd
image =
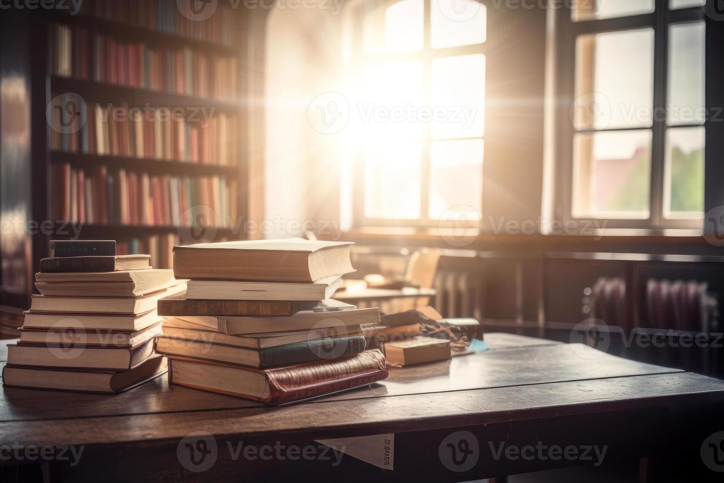
[(261, 240), (174, 247), (183, 295), (162, 298), (172, 384), (277, 405), (387, 377), (362, 325), (379, 308), (330, 299), (353, 272), (350, 243)]

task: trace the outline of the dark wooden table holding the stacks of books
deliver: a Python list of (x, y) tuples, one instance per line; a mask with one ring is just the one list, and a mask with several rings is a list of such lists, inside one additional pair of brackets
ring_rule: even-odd
[[(65, 450), (68, 460), (46, 463), (51, 479), (456, 482), (592, 463), (581, 456), (595, 446), (606, 448), (606, 464), (647, 458), (642, 467), (651, 481), (681, 468), (696, 474), (690, 481), (721, 475), (703, 465), (699, 447), (724, 430), (724, 382), (584, 345), (485, 338), (486, 353), (393, 368), (380, 384), (282, 408), (169, 386), (166, 377), (112, 396), (3, 388), (0, 465), (37, 463), (22, 449), (20, 458), (4, 458), (12, 452), (3, 448), (13, 445), (52, 447), (56, 456), (72, 445), (76, 452), (82, 447), (80, 459)], [(394, 469), (316, 442), (349, 437), (390, 440)], [(351, 453), (357, 442), (336, 447)], [(556, 460), (496, 457), (500, 445), (579, 453)], [(4, 468), (0, 476), (34, 469)]]

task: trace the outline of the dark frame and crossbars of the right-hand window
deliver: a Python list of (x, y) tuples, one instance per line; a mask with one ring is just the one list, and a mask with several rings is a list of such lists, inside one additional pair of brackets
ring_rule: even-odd
[[(553, 91), (556, 100), (560, 100), (555, 108), (556, 117), (560, 119), (560, 126), (555, 135), (555, 185), (560, 189), (554, 190), (552, 195), (555, 203), (556, 219), (573, 220), (579, 226), (585, 227), (591, 219), (607, 222), (610, 229), (636, 229), (636, 230), (699, 230), (702, 227), (701, 219), (670, 219), (664, 216), (665, 198), (665, 163), (666, 163), (666, 133), (669, 128), (703, 127), (704, 128), (704, 165), (707, 164), (707, 122), (699, 124), (673, 124), (668, 125), (666, 115), (656, 115), (652, 119), (651, 127), (624, 127), (605, 130), (583, 129), (577, 130), (573, 120), (569, 120), (570, 111), (576, 99), (576, 41), (580, 35), (620, 32), (626, 30), (639, 30), (652, 28), (654, 31), (654, 83), (653, 83), (653, 112), (666, 112), (668, 104), (669, 79), (669, 28), (670, 25), (704, 22), (708, 30), (709, 22), (702, 7), (687, 7), (685, 9), (669, 8), (669, 0), (655, 0), (654, 12), (637, 14), (629, 17), (607, 18), (601, 20), (574, 21), (570, 9), (557, 9), (552, 12), (554, 17), (555, 34), (552, 48), (555, 51), (555, 86)], [(704, 62), (708, 62), (707, 41), (704, 40)], [(706, 72), (706, 64), (704, 67)], [(704, 106), (709, 106), (707, 87), (709, 79), (704, 72)], [(563, 119), (566, 119), (564, 124)], [(576, 133), (616, 132), (627, 130), (651, 130), (651, 173), (649, 180), (649, 218), (605, 218), (605, 217), (574, 217), (573, 216), (573, 167), (574, 167), (574, 137)], [(704, 186), (707, 186), (706, 175)], [(702, 186), (702, 189), (704, 189)], [(704, 211), (707, 211), (706, 205)], [(550, 214), (549, 214), (550, 216)]]

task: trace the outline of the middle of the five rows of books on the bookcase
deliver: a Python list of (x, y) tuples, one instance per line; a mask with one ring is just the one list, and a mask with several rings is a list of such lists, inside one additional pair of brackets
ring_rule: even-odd
[[(75, 104), (80, 103), (80, 106)], [(51, 111), (51, 148), (57, 151), (130, 156), (194, 164), (237, 164), (240, 126), (237, 117), (213, 112), (208, 119), (185, 118), (168, 109), (129, 109), (86, 104), (72, 93), (58, 96), (59, 106), (77, 107), (76, 119), (62, 109)], [(85, 119), (85, 122), (83, 122)], [(77, 128), (67, 127), (78, 122)]]

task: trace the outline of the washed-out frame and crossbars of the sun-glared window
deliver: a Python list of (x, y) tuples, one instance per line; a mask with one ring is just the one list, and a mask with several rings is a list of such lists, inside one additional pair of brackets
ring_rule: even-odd
[[(396, 4), (402, 0), (384, 0), (384, 1), (363, 1), (360, 4), (355, 5), (353, 17), (359, 19), (365, 19), (368, 15), (376, 16), (377, 20), (382, 19), (384, 22), (384, 10), (387, 7)], [(442, 59), (454, 56), (463, 56), (471, 54), (482, 54), (488, 56), (489, 41), (486, 35), (486, 41), (483, 43), (475, 43), (466, 46), (455, 46), (455, 47), (443, 47), (434, 49), (431, 44), (431, 9), (433, 0), (422, 0), (423, 1), (423, 45), (422, 49), (413, 52), (401, 52), (401, 53), (379, 53), (379, 54), (368, 54), (363, 48), (363, 26), (365, 20), (354, 22), (352, 26), (352, 60), (351, 65), (353, 70), (360, 71), (363, 66), (369, 62), (421, 62), (423, 79), (422, 79), (422, 91), (423, 100), (425, 105), (432, 106), (432, 62), (434, 59)], [(482, 0), (480, 4), (485, 5)], [(487, 25), (490, 25), (490, 14), (491, 9), (487, 9)], [(489, 32), (489, 29), (486, 29)], [(384, 24), (382, 25), (384, 28)], [(485, 80), (487, 84), (488, 69), (487, 63), (485, 66)], [(485, 105), (485, 104), (484, 104)], [(484, 110), (484, 122), (487, 126), (487, 109)], [(487, 130), (487, 129), (486, 129)], [(467, 140), (467, 139), (482, 139), (483, 140), (483, 156), (481, 159), (481, 166), (484, 162), (487, 146), (484, 141), (485, 131), (483, 135), (475, 138), (445, 138), (437, 140)], [(364, 166), (364, 153), (361, 149), (356, 149), (353, 154), (352, 165), (353, 165), (353, 201), (352, 201), (352, 215), (353, 225), (355, 227), (416, 227), (416, 228), (430, 228), (440, 227), (441, 222), (438, 219), (431, 219), (429, 217), (429, 190), (430, 190), (430, 172), (432, 167), (432, 160), (430, 151), (432, 143), (436, 141), (432, 137), (432, 123), (425, 123), (422, 127), (422, 136), (420, 140), (421, 146), (421, 160), (420, 160), (420, 217), (417, 219), (399, 219), (399, 218), (371, 218), (366, 217), (365, 214), (365, 166)], [(483, 176), (481, 169), (480, 176)], [(482, 205), (482, 195), (481, 195)], [(479, 213), (482, 217), (482, 214)], [(450, 222), (452, 226), (452, 221)]]

